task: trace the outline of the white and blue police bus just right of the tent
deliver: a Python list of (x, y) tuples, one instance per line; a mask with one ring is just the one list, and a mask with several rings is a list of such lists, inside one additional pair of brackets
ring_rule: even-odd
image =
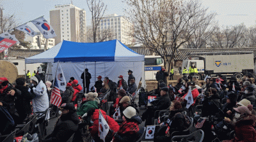
[(164, 66), (163, 61), (159, 55), (145, 55), (145, 80), (156, 80), (157, 71)]

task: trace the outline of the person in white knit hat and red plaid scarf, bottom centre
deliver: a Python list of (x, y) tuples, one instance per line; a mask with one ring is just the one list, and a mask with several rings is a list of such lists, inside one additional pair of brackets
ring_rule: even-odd
[(139, 132), (139, 124), (141, 118), (136, 115), (136, 110), (131, 106), (124, 110), (124, 122), (120, 125), (117, 132), (109, 129), (110, 134), (113, 136), (113, 142), (129, 142), (138, 139), (137, 133)]

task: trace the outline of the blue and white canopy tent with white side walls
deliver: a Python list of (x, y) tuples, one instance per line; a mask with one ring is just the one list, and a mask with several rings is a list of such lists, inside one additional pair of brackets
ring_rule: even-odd
[[(131, 69), (136, 78), (136, 84), (141, 82), (145, 85), (144, 55), (140, 55), (118, 40), (100, 43), (76, 43), (61, 41), (51, 49), (25, 59), (26, 64), (49, 62), (47, 74), (55, 73), (57, 62), (66, 80), (74, 77), (82, 85), (81, 74), (88, 68), (92, 75), (90, 87), (97, 81), (97, 76), (108, 76), (113, 82), (118, 81), (118, 76), (124, 76), (128, 80), (127, 71)], [(52, 73), (51, 73), (52, 72)], [(53, 78), (49, 78), (51, 80)]]

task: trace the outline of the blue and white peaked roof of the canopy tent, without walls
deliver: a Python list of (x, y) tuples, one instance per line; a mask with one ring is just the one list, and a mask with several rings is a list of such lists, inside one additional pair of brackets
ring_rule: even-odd
[(61, 41), (51, 49), (25, 59), (26, 64), (38, 62), (134, 62), (144, 61), (140, 55), (118, 40), (100, 43)]

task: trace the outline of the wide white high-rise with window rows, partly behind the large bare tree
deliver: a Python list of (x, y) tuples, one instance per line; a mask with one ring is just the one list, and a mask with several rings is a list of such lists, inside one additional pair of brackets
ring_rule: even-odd
[[(97, 41), (99, 41), (99, 37), (107, 37), (103, 41), (118, 39), (125, 45), (132, 45), (134, 43), (134, 38), (132, 38), (129, 34), (134, 32), (133, 28), (134, 25), (123, 16), (118, 16), (116, 14), (106, 15), (100, 21), (97, 31)], [(92, 26), (87, 26), (87, 31), (90, 30), (92, 31)], [(103, 34), (109, 34), (110, 36), (104, 36)], [(93, 42), (93, 38), (91, 36), (92, 33), (87, 32), (86, 41), (89, 43)]]

